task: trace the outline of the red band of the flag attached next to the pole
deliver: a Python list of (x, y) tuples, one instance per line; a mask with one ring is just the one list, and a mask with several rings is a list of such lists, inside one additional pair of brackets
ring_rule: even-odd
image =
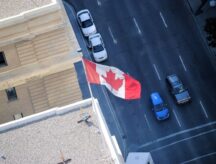
[(89, 83), (100, 84), (100, 78), (98, 73), (96, 72), (96, 64), (83, 59), (83, 63), (85, 64), (86, 76)]

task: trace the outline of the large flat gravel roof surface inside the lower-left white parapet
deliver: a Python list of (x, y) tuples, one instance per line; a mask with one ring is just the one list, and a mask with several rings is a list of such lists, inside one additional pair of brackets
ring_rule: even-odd
[[(77, 123), (88, 113), (89, 123)], [(5, 158), (5, 159), (4, 159)], [(114, 163), (92, 107), (76, 109), (0, 134), (0, 163)]]

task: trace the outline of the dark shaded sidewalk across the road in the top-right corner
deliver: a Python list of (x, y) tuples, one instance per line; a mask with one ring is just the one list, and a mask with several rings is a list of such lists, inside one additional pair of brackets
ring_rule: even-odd
[(206, 47), (209, 50), (209, 57), (213, 63), (213, 66), (216, 70), (216, 47), (210, 47), (208, 46), (208, 41), (206, 39), (207, 33), (204, 31), (204, 26), (206, 23), (207, 18), (215, 17), (216, 18), (216, 7), (210, 7), (209, 2), (206, 2), (206, 4), (201, 8), (202, 12), (196, 13), (198, 8), (200, 7), (202, 0), (187, 0), (188, 4), (191, 8), (193, 17), (195, 19), (195, 22), (199, 28), (201, 37), (203, 38)]

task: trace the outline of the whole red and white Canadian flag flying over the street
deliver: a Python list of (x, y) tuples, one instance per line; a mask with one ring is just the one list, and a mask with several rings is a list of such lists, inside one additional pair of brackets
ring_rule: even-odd
[(93, 63), (83, 59), (89, 83), (105, 85), (115, 96), (123, 99), (139, 99), (140, 82), (115, 67)]

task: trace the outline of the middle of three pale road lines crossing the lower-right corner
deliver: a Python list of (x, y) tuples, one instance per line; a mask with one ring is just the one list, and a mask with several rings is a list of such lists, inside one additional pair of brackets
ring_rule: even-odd
[(173, 145), (178, 144), (178, 143), (183, 142), (183, 141), (187, 141), (187, 140), (190, 140), (190, 139), (193, 139), (193, 138), (197, 138), (197, 137), (200, 137), (200, 136), (209, 134), (209, 133), (213, 133), (213, 132), (215, 132), (215, 131), (216, 131), (216, 129), (208, 130), (208, 131), (206, 131), (206, 132), (199, 133), (199, 134), (194, 135), (194, 136), (192, 136), (192, 137), (187, 137), (187, 138), (184, 138), (184, 139), (181, 139), (181, 140), (172, 142), (172, 143), (170, 143), (170, 144), (167, 144), (167, 145), (165, 145), (165, 146), (158, 147), (158, 148), (156, 148), (156, 149), (151, 150), (150, 152), (158, 151), (158, 150), (161, 150), (161, 149), (164, 149), (164, 148), (173, 146)]

